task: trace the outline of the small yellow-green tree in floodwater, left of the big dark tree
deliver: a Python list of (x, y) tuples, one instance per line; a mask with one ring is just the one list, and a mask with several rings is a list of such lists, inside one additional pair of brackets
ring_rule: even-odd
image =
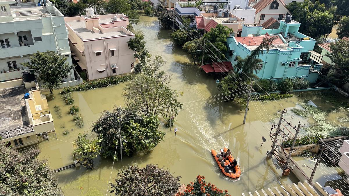
[(89, 140), (87, 137), (88, 134), (79, 133), (77, 139), (73, 142), (75, 148), (73, 157), (80, 165), (87, 169), (93, 169), (93, 159), (97, 158), (101, 146), (99, 146), (99, 140)]

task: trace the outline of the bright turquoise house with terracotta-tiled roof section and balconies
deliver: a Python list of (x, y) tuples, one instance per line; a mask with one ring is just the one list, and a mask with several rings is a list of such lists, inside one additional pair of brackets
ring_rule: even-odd
[[(313, 51), (315, 39), (298, 32), (300, 23), (281, 21), (279, 29), (263, 29), (259, 24), (243, 24), (242, 37), (229, 37), (229, 60), (245, 58), (265, 37), (276, 36), (269, 52), (259, 54), (262, 63), (255, 74), (259, 78), (278, 81), (282, 78), (304, 78), (311, 83), (318, 79), (322, 55)], [(282, 33), (282, 34), (281, 34)]]

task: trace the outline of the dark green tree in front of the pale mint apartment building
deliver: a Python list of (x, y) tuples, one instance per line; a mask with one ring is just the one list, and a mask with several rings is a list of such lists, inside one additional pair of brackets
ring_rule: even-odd
[(21, 65), (32, 69), (39, 74), (39, 80), (43, 81), (43, 86), (50, 89), (58, 88), (61, 85), (62, 77), (69, 75), (75, 65), (69, 65), (66, 57), (61, 57), (53, 51), (34, 53), (30, 61)]

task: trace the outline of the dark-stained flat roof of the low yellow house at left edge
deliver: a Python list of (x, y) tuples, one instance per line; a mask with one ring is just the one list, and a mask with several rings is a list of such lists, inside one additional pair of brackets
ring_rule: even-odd
[(24, 87), (0, 90), (0, 133), (30, 125), (24, 94)]

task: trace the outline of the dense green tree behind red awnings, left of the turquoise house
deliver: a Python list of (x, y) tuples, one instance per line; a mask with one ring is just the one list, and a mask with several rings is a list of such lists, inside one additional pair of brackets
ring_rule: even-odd
[[(211, 28), (210, 32), (205, 33), (203, 36), (204, 40), (206, 39), (208, 41), (205, 42), (206, 46), (209, 50), (213, 51), (214, 57), (217, 56), (218, 59), (225, 58), (224, 54), (228, 51), (226, 42), (230, 32), (233, 32), (233, 30), (227, 26), (218, 24), (216, 28)], [(205, 59), (209, 61), (210, 57), (206, 55)]]

